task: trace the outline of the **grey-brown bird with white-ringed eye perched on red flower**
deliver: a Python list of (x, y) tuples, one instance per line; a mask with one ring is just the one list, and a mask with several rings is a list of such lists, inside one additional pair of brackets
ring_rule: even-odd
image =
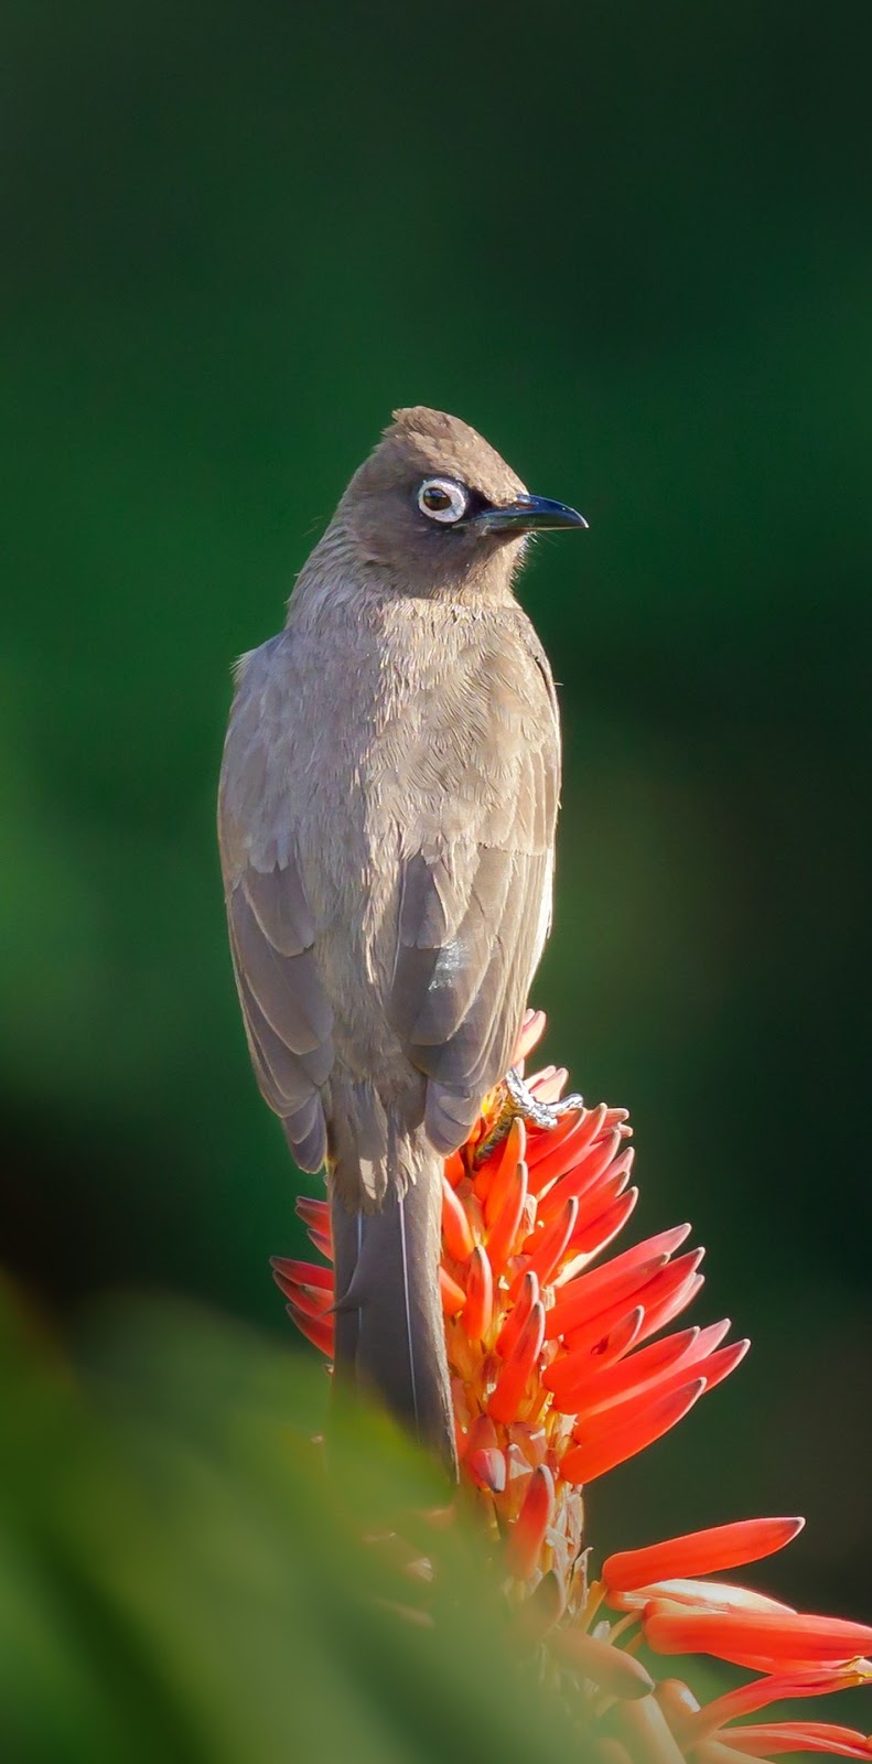
[[(235, 669), (219, 787), (259, 1090), (327, 1166), (334, 1372), (455, 1469), (443, 1161), (507, 1074), (551, 926), (560, 714), (514, 594), (584, 527), (468, 423), (394, 411)], [(522, 1110), (522, 1085), (512, 1087)]]

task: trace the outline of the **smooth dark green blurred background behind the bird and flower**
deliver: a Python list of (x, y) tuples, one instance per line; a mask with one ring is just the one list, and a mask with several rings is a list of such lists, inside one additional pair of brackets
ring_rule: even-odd
[[(279, 1332), (214, 794), (229, 663), (397, 404), (591, 531), (545, 1057), (630, 1106), (637, 1221), (747, 1365), (591, 1492), (609, 1547), (768, 1510), (870, 1614), (868, 5), (7, 0), (4, 1259)], [(311, 1191), (307, 1178), (304, 1189)]]

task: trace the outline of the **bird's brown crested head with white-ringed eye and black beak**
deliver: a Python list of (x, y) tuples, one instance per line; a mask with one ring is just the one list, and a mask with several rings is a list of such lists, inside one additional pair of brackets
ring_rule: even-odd
[(531, 533), (588, 524), (531, 496), (468, 423), (422, 404), (394, 411), (337, 513), (367, 570), (399, 593), (452, 598), (507, 594)]

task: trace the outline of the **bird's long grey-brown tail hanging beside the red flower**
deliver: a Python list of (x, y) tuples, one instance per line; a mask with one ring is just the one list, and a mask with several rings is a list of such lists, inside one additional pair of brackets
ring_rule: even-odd
[[(365, 1192), (369, 1180), (365, 1189), (360, 1177), (350, 1182), (346, 1157), (332, 1173), (335, 1374), (381, 1399), (454, 1469), (440, 1300), (441, 1159), (390, 1118), (387, 1129), (376, 1194)], [(350, 1205), (355, 1189), (364, 1207)]]

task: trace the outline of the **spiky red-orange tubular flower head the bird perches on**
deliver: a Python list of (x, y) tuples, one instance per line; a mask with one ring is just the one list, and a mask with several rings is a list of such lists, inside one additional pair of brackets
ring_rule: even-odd
[[(542, 1030), (542, 1013), (528, 1013), (519, 1060)], [(554, 1101), (565, 1081), (547, 1067), (530, 1088)], [(515, 1118), (500, 1136), (503, 1108), (501, 1090), (487, 1097), (445, 1162), (440, 1286), (461, 1476), (501, 1540), (519, 1637), (547, 1646), (575, 1681), (602, 1760), (872, 1759), (863, 1734), (831, 1723), (734, 1725), (872, 1679), (872, 1628), (708, 1579), (784, 1549), (801, 1519), (621, 1551), (588, 1579), (583, 1485), (683, 1420), (748, 1342), (724, 1341), (727, 1319), (664, 1334), (703, 1286), (703, 1251), (676, 1254), (690, 1226), (602, 1259), (637, 1198), (625, 1110), (579, 1108), (544, 1129)], [(298, 1212), (330, 1259), (327, 1201), (300, 1200)], [(330, 1268), (275, 1258), (274, 1275), (298, 1328), (330, 1355)], [(643, 1641), (653, 1655), (713, 1655), (757, 1676), (699, 1708), (676, 1679), (653, 1685), (634, 1655)]]

